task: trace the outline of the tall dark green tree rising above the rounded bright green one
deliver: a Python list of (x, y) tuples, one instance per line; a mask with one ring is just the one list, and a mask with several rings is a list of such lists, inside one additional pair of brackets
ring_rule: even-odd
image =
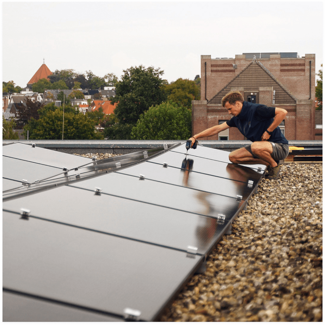
[(140, 115), (153, 105), (167, 99), (160, 76), (162, 70), (140, 65), (123, 70), (122, 80), (116, 84), (115, 97), (111, 103), (118, 103), (114, 110), (119, 123), (135, 124)]

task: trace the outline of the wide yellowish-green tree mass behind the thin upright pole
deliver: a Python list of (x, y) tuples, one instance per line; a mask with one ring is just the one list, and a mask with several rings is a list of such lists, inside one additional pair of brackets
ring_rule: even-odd
[[(61, 140), (63, 126), (63, 111), (48, 110), (39, 120), (31, 119), (24, 127), (24, 135), (29, 131), (33, 140)], [(96, 132), (94, 121), (84, 114), (64, 113), (65, 140), (99, 140), (103, 136)]]

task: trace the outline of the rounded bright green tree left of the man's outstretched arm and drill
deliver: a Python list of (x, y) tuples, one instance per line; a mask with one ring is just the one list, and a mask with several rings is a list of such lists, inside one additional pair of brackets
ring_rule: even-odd
[(132, 128), (137, 140), (179, 140), (191, 136), (191, 111), (175, 102), (163, 102), (141, 114)]

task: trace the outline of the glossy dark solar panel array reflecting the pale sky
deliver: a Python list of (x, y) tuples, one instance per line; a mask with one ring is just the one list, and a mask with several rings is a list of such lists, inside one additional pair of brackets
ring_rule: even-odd
[(265, 166), (185, 144), (101, 161), (3, 146), (4, 322), (155, 321)]

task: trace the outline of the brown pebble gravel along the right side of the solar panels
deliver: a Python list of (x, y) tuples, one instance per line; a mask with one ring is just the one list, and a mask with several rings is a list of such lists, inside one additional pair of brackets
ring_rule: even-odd
[(161, 322), (321, 322), (322, 164), (263, 178), (226, 235)]

